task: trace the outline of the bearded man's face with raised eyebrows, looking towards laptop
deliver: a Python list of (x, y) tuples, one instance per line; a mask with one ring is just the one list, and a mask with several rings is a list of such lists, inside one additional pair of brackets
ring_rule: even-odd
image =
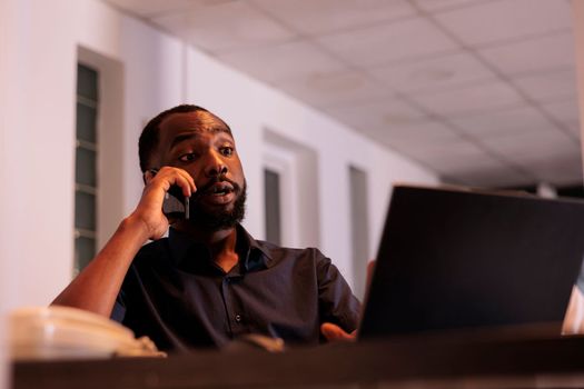
[(186, 170), (197, 192), (190, 201), (191, 223), (212, 230), (244, 218), (246, 182), (234, 138), (212, 113), (172, 113), (160, 123), (159, 166)]

